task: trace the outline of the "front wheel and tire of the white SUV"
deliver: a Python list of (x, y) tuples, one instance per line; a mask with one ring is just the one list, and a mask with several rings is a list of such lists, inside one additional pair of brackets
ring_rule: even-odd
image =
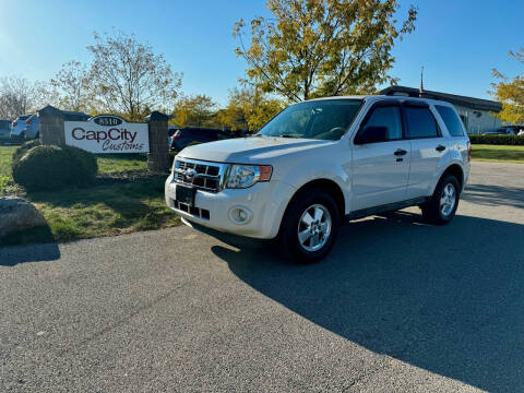
[(285, 255), (300, 263), (324, 258), (338, 235), (340, 211), (333, 198), (321, 189), (302, 192), (291, 201), (279, 231)]

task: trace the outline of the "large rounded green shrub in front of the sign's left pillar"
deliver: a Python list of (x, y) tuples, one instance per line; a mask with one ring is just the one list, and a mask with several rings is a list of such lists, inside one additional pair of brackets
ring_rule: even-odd
[(57, 190), (93, 182), (96, 157), (72, 146), (40, 145), (13, 160), (13, 179), (28, 191)]

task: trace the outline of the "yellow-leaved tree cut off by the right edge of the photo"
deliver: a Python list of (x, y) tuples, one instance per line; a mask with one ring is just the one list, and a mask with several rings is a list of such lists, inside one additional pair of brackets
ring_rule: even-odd
[[(524, 64), (524, 48), (516, 52), (510, 50), (510, 56)], [(512, 81), (496, 69), (492, 70), (492, 74), (499, 82), (491, 84), (495, 91), (490, 93), (502, 103), (502, 111), (495, 116), (502, 121), (522, 124), (524, 122), (524, 73)]]

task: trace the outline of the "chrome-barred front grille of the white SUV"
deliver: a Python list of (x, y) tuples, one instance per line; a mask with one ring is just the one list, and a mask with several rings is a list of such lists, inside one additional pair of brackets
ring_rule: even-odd
[(225, 164), (187, 158), (177, 159), (175, 163), (175, 182), (193, 186), (198, 190), (218, 192), (225, 168)]

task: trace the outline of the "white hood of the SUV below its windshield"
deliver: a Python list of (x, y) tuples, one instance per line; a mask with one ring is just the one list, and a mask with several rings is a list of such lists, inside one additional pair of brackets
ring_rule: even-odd
[(182, 150), (178, 156), (217, 163), (264, 164), (285, 154), (333, 144), (335, 141), (273, 136), (238, 138), (202, 143)]

